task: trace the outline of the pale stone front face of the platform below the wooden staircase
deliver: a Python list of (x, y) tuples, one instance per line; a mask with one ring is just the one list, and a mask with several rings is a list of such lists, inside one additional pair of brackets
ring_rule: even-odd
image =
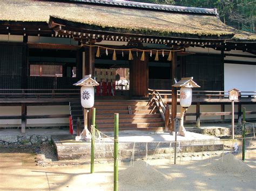
[[(52, 136), (52, 143), (56, 148), (58, 160), (71, 159), (90, 159), (90, 142), (75, 142), (75, 136), (61, 139), (60, 136)], [(112, 158), (113, 141), (95, 142), (95, 157), (96, 158)], [(214, 144), (213, 144), (214, 143)], [(146, 153), (147, 145), (147, 153)], [(170, 142), (119, 142), (118, 144), (121, 157), (131, 158), (134, 151), (134, 156), (145, 156), (157, 154), (172, 154), (174, 153), (174, 144)], [(134, 150), (133, 150), (134, 147)], [(207, 152), (207, 151), (221, 151), (223, 143), (219, 140), (197, 140), (196, 142), (187, 142), (186, 140), (180, 142), (180, 149), (183, 153), (190, 152)]]

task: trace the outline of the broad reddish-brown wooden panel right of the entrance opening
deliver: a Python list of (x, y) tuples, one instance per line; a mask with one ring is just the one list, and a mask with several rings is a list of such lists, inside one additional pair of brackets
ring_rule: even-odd
[(130, 67), (130, 97), (147, 97), (149, 89), (149, 56), (145, 53), (145, 61), (141, 61), (142, 53), (133, 55)]

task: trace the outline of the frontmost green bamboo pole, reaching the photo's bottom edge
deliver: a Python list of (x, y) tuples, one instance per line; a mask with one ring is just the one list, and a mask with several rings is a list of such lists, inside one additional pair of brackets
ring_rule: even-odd
[(114, 114), (114, 191), (118, 190), (118, 123), (119, 114)]

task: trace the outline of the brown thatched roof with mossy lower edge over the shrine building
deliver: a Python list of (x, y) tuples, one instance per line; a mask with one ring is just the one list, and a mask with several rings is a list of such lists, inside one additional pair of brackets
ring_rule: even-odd
[[(76, 1), (75, 1), (76, 2)], [(109, 6), (107, 3), (61, 3), (32, 0), (2, 0), (0, 20), (21, 22), (48, 22), (50, 16), (71, 22), (95, 26), (112, 32), (157, 34), (172, 37), (179, 34), (204, 39), (231, 39), (234, 29), (222, 23), (212, 9), (175, 7), (140, 9), (136, 6)], [(99, 1), (97, 1), (99, 2)], [(169, 9), (169, 11), (168, 11)], [(179, 11), (181, 10), (181, 11)], [(191, 11), (194, 10), (194, 11)], [(198, 12), (196, 12), (198, 11)], [(180, 13), (182, 12), (182, 13)], [(256, 36), (239, 34), (238, 38), (256, 39)]]

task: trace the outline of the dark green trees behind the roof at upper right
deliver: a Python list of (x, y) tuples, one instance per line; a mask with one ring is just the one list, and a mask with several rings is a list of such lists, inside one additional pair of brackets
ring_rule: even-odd
[(255, 0), (135, 0), (144, 3), (218, 9), (222, 22), (239, 30), (255, 33)]

